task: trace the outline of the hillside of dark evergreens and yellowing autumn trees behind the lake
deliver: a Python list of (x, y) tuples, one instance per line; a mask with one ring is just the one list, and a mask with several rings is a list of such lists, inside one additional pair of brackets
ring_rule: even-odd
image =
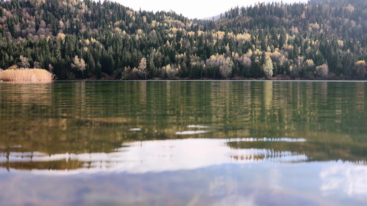
[(257, 3), (210, 21), (111, 1), (0, 1), (0, 68), (58, 80), (366, 78), (367, 2), (323, 2)]

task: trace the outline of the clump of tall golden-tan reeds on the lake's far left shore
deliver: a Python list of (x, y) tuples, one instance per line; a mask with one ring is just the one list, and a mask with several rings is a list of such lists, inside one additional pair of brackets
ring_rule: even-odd
[(7, 69), (0, 72), (3, 81), (52, 81), (54, 75), (44, 69)]

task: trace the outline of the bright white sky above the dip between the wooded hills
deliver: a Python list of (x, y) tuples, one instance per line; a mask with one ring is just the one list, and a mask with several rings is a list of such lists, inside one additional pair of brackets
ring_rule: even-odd
[[(259, 2), (259, 0), (232, 0), (232, 1), (200, 1), (200, 0), (185, 0), (185, 1), (177, 1), (177, 0), (132, 0), (132, 1), (124, 1), (124, 0), (116, 0), (120, 4), (130, 7), (133, 10), (142, 10), (147, 11), (169, 11), (170, 9), (177, 12), (178, 14), (182, 14), (188, 18), (205, 18), (210, 16), (215, 16), (221, 13), (224, 13), (231, 7), (235, 7), (236, 5), (250, 5), (255, 2)], [(263, 0), (264, 1), (264, 0)], [(260, 1), (260, 2), (263, 2)], [(265, 2), (272, 2), (273, 0), (265, 0)], [(306, 0), (301, 0), (306, 1)], [(275, 2), (275, 0), (274, 0)], [(280, 0), (279, 0), (280, 2)], [(283, 0), (283, 3), (293, 3), (299, 2), (299, 0)]]

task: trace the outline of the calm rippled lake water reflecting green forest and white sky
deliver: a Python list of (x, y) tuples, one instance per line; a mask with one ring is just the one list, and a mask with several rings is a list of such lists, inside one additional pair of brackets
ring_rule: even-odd
[(366, 98), (366, 82), (0, 82), (0, 205), (366, 205)]

